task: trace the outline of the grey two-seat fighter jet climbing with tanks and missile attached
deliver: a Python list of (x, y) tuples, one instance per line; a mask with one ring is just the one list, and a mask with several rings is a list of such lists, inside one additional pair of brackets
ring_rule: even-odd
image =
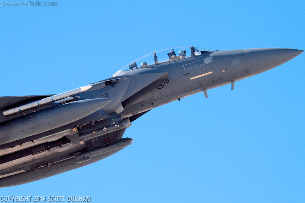
[(110, 78), (56, 95), (0, 97), (0, 187), (94, 163), (134, 140), (125, 130), (149, 110), (257, 75), (301, 54), (288, 48), (171, 47)]

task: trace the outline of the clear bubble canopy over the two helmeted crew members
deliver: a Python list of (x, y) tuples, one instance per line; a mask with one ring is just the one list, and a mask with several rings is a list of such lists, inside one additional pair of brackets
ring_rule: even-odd
[(125, 65), (119, 71), (112, 75), (112, 77), (119, 75), (126, 75), (131, 70), (137, 68), (146, 68), (147, 66), (156, 65), (168, 61), (179, 60), (182, 58), (189, 58), (193, 56), (198, 56), (201, 54), (206, 54), (208, 52), (214, 52), (215, 50), (203, 49), (199, 47), (170, 47), (166, 49), (161, 49), (159, 51), (154, 51), (152, 53), (146, 54), (138, 58), (137, 60), (131, 61), (129, 64)]

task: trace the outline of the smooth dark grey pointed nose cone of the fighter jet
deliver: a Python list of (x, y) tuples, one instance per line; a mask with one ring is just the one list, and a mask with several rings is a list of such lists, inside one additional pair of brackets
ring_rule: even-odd
[(255, 75), (282, 65), (302, 52), (288, 48), (244, 49), (250, 71)]

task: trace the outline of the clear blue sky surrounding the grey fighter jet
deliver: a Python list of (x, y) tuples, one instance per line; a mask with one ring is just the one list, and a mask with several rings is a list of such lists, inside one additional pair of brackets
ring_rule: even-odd
[[(173, 46), (305, 49), (305, 1), (57, 2), (0, 7), (0, 96), (62, 93)], [(0, 196), (304, 202), (304, 59), (153, 109), (113, 156)]]

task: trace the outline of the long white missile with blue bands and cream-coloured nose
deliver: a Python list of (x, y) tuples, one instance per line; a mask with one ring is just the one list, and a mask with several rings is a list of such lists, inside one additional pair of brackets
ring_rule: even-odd
[(77, 89), (72, 89), (72, 90), (64, 92), (64, 93), (56, 94), (54, 96), (49, 96), (47, 98), (44, 98), (44, 99), (41, 99), (41, 100), (38, 100), (38, 101), (35, 101), (35, 102), (24, 104), (20, 107), (15, 107), (13, 109), (5, 110), (5, 111), (3, 111), (3, 115), (9, 116), (9, 115), (18, 113), (20, 111), (24, 111), (24, 110), (27, 110), (27, 109), (32, 109), (32, 108), (41, 106), (41, 105), (46, 104), (46, 103), (57, 101), (57, 100), (69, 97), (71, 95), (74, 95), (74, 94), (77, 94), (77, 93), (80, 93), (80, 92), (84, 92), (84, 91), (90, 89), (91, 87), (92, 87), (91, 85), (87, 85), (87, 86), (79, 87)]

